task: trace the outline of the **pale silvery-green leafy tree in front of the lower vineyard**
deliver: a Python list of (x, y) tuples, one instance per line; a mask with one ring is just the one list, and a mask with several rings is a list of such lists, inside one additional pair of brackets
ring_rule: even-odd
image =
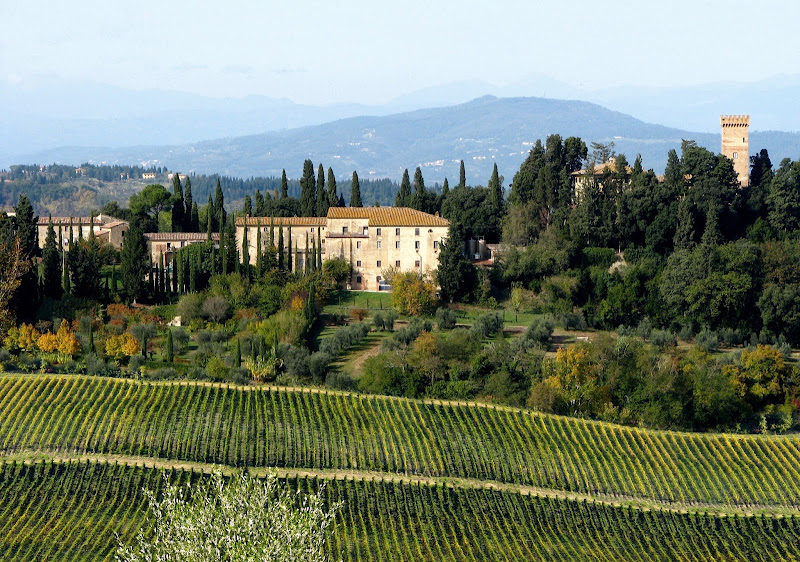
[(145, 495), (150, 519), (132, 544), (120, 542), (120, 562), (325, 561), (340, 507), (326, 509), (321, 493), (292, 492), (274, 474), (226, 481), (217, 473), (193, 487), (166, 482), (159, 496)]

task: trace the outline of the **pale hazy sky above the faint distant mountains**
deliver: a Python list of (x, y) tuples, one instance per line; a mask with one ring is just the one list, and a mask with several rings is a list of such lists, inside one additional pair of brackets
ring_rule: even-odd
[(587, 89), (800, 73), (800, 2), (0, 0), (0, 80), (381, 103), (542, 73)]

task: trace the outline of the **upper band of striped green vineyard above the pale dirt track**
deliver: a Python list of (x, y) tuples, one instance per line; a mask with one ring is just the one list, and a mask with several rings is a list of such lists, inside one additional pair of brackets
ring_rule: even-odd
[(468, 478), (724, 511), (800, 508), (800, 441), (334, 392), (0, 377), (0, 452)]

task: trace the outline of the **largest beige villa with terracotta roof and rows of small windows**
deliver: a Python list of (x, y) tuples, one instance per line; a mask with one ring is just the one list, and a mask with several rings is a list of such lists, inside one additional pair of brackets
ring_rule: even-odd
[[(295, 268), (306, 263), (306, 235), (308, 252), (312, 239), (319, 236), (323, 260), (339, 257), (353, 267), (350, 279), (352, 289), (378, 291), (385, 271), (417, 271), (431, 273), (439, 265), (439, 247), (447, 238), (449, 222), (405, 207), (331, 207), (327, 217), (247, 219), (247, 242), (250, 262), (256, 261), (257, 230), (261, 229), (264, 248), (269, 241), (270, 222), (275, 225), (275, 242), (278, 229), (284, 229), (288, 240), (288, 227), (292, 232), (292, 256)], [(242, 248), (245, 219), (237, 219), (236, 241)], [(285, 248), (287, 248), (285, 243)], [(288, 248), (287, 248), (288, 249)], [(241, 250), (240, 250), (241, 251)]]

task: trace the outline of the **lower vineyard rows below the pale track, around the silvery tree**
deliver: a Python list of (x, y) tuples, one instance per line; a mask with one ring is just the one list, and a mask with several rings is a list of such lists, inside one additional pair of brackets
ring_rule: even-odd
[[(186, 482), (198, 472), (170, 470)], [(111, 463), (0, 465), (0, 558), (112, 560), (162, 471)], [(322, 481), (291, 478), (301, 490)], [(382, 480), (328, 480), (344, 501), (329, 554), (343, 560), (791, 560), (795, 517), (715, 517)]]

